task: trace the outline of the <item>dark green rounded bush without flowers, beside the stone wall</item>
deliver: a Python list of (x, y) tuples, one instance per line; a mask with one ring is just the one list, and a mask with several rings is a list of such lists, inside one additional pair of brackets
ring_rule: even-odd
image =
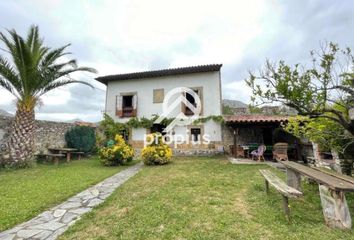
[(91, 152), (96, 143), (95, 130), (87, 126), (75, 126), (65, 133), (68, 147), (76, 148), (80, 152)]

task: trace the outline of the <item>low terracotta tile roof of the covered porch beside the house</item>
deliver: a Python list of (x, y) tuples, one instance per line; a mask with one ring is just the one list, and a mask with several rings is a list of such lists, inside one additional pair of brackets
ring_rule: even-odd
[(286, 122), (288, 116), (279, 115), (230, 115), (224, 116), (226, 123), (263, 123), (263, 122)]

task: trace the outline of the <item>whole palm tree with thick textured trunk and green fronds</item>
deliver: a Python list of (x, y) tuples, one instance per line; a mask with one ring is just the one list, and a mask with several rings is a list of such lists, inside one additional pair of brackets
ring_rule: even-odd
[(0, 55), (0, 86), (16, 97), (17, 109), (3, 161), (9, 167), (26, 167), (33, 157), (34, 109), (41, 96), (70, 83), (91, 86), (70, 75), (96, 70), (78, 67), (74, 59), (64, 61), (70, 54), (66, 52), (70, 44), (55, 49), (44, 46), (37, 26), (30, 27), (26, 39), (15, 30), (7, 32), (9, 36), (0, 33), (5, 46), (2, 50), (9, 55), (9, 59)]

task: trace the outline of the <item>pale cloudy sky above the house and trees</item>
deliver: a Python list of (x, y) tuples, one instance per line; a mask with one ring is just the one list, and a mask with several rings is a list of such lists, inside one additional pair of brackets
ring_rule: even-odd
[[(304, 63), (326, 41), (354, 48), (354, 1), (0, 1), (0, 31), (40, 27), (45, 43), (70, 51), (98, 75), (222, 63), (223, 97), (249, 102), (244, 79), (265, 60)], [(0, 52), (0, 54), (3, 54)], [(36, 117), (98, 121), (105, 86), (72, 85), (43, 97)], [(0, 109), (15, 111), (0, 89)]]

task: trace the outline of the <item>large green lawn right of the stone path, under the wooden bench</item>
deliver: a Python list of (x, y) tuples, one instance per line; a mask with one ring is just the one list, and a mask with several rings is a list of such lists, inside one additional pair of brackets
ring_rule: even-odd
[(354, 230), (325, 226), (316, 185), (304, 183), (305, 197), (290, 201), (288, 224), (281, 195), (264, 191), (265, 167), (224, 158), (144, 167), (61, 239), (354, 239)]

